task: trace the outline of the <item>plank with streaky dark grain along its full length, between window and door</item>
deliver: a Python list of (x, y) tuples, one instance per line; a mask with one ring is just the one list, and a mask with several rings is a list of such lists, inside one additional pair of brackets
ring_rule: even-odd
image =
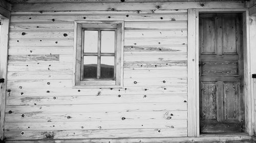
[(184, 69), (187, 67), (186, 61), (160, 61), (160, 62), (124, 62), (124, 70), (144, 70), (144, 69)]

